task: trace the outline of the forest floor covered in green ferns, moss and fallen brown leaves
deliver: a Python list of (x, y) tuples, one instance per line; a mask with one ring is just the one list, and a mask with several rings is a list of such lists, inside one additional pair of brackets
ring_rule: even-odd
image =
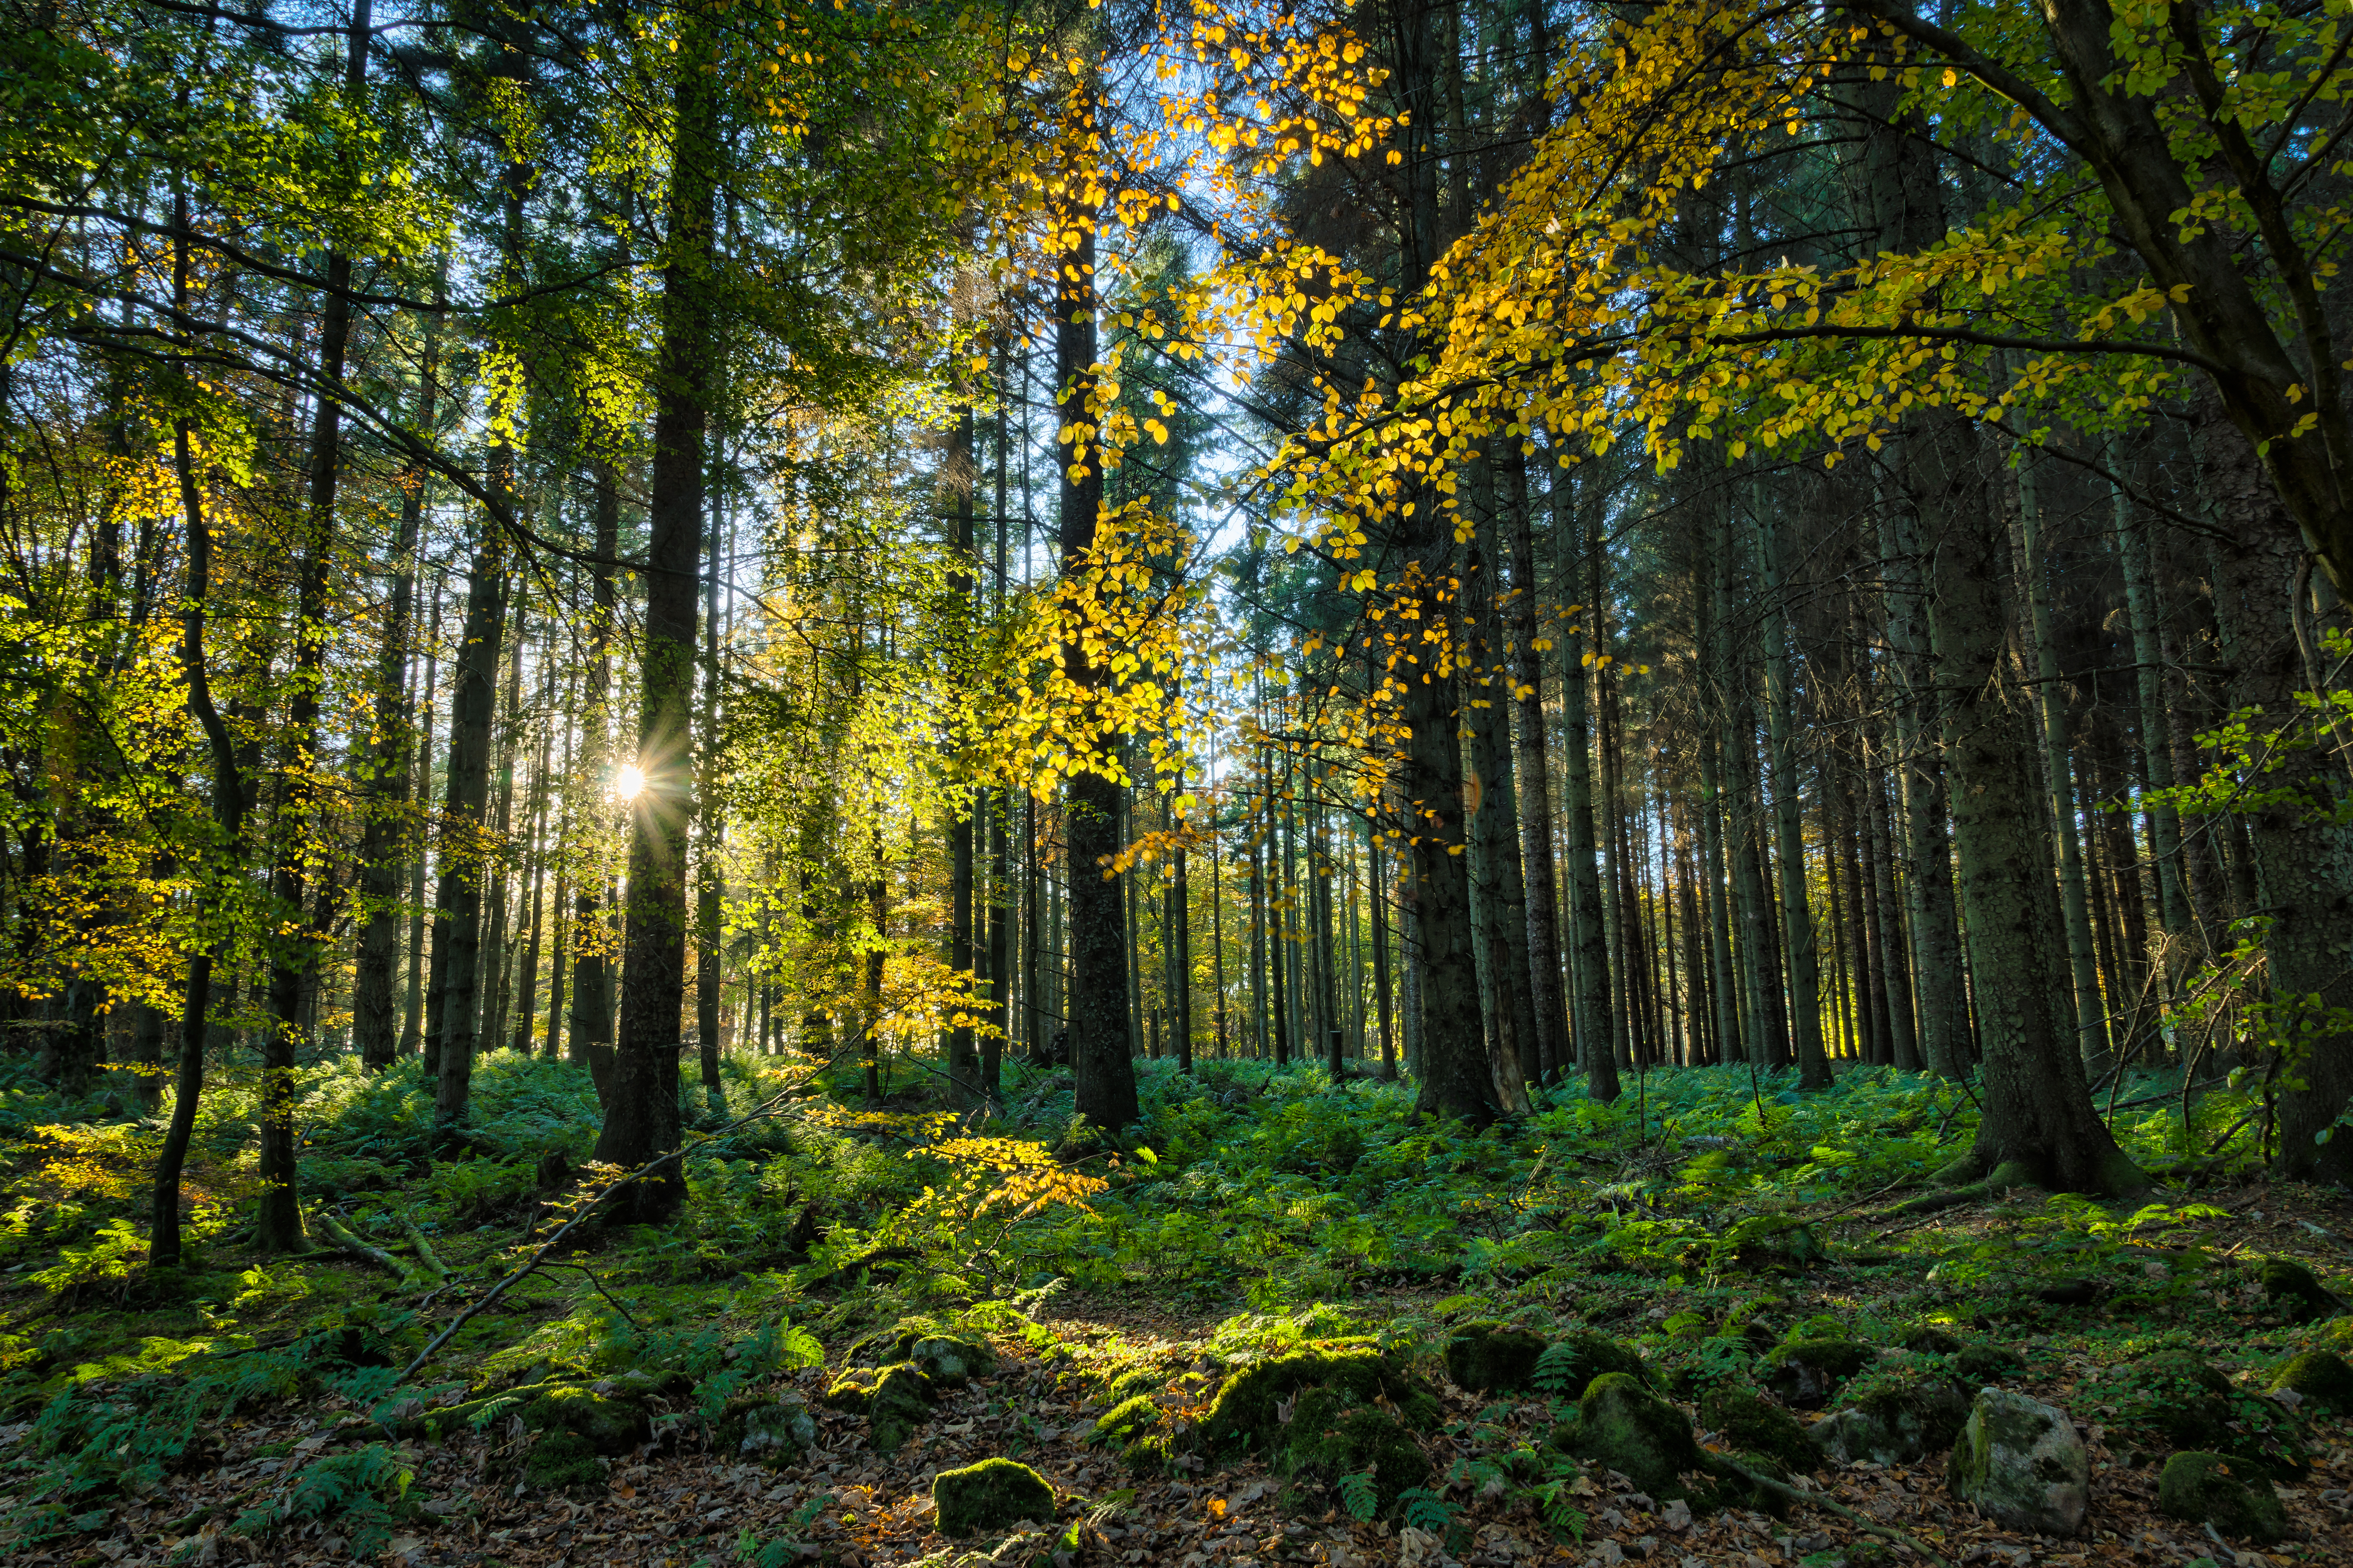
[[(746, 1065), (729, 1105), (784, 1079)], [(7, 1561), (2353, 1561), (2353, 1406), (2271, 1392), (2299, 1352), (2353, 1349), (2353, 1319), (2282, 1298), (2275, 1279), (2266, 1291), (2264, 1272), (2292, 1260), (2344, 1293), (2353, 1199), (2261, 1180), (2240, 1140), (2214, 1159), (2169, 1154), (2184, 1131), (2205, 1150), (2247, 1110), (2226, 1091), (2193, 1098), (2184, 1128), (2162, 1079), (2125, 1086), (2153, 1107), (2118, 1117), (2160, 1178), (2144, 1201), (2005, 1192), (1934, 1213), (1899, 1206), (1965, 1147), (1974, 1112), (1951, 1086), (1885, 1072), (1824, 1095), (1668, 1072), (1640, 1103), (1565, 1093), (1518, 1126), (1468, 1133), (1412, 1121), (1393, 1086), (1226, 1063), (1186, 1081), (1153, 1063), (1146, 1121), (1120, 1145), (1071, 1124), (1059, 1074), (1016, 1074), (1007, 1117), (986, 1126), (915, 1103), (800, 1103), (711, 1145), (680, 1222), (581, 1232), (584, 1251), (529, 1274), (398, 1382), (461, 1302), (527, 1260), (527, 1225), (548, 1234), (562, 1199), (539, 1194), (534, 1171), (593, 1133), (584, 1095), (569, 1067), (489, 1058), (475, 1157), (419, 1171), (414, 1070), (320, 1070), (315, 1211), (341, 1211), (395, 1267), (426, 1258), (402, 1237), (431, 1237), (442, 1284), (348, 1253), (249, 1255), (249, 1121), (231, 1095), (195, 1182), (214, 1204), (198, 1211), (207, 1253), (148, 1279), (134, 1232), (108, 1225), (132, 1208), (151, 1124), (73, 1121), (89, 1107), (7, 1091)], [(1009, 1218), (1005, 1199), (1035, 1213)], [(878, 1425), (826, 1392), (878, 1359), (866, 1335), (913, 1314), (986, 1340), (993, 1366), (960, 1387), (944, 1378), (936, 1408), (882, 1453)], [(1711, 1392), (1758, 1389), (1819, 1420), (1889, 1366), (1944, 1378), (1958, 1363), (1969, 1394), (1993, 1382), (2068, 1413), (2092, 1460), (2087, 1528), (2040, 1537), (1955, 1500), (1951, 1432), (1911, 1460), (1793, 1467), (1802, 1497), (1777, 1512), (1645, 1495), (1555, 1446), (1579, 1389), (1544, 1387), (1548, 1363), (1518, 1387), (1454, 1380), (1449, 1335), (1489, 1319), (1626, 1345), (1708, 1448), (1737, 1446), (1708, 1425)], [(1882, 1371), (1845, 1392), (1777, 1382), (1788, 1345), (1824, 1340), (1866, 1347)], [(1412, 1439), (1426, 1486), (1377, 1505), (1369, 1486), (1313, 1465), (1184, 1439), (1242, 1368), (1334, 1347), (1377, 1349), (1433, 1394)], [(2278, 1540), (2158, 1507), (2160, 1465), (2188, 1446), (2174, 1408), (2184, 1356), (2226, 1385), (2198, 1443), (2254, 1486), (2275, 1479)], [(527, 1401), (567, 1375), (626, 1392), (647, 1425), (602, 1443), (593, 1479), (534, 1486), (518, 1467), (546, 1439), (527, 1429)], [(525, 1394), (480, 1403), (508, 1387)], [(788, 1450), (746, 1458), (734, 1429), (720, 1436), (729, 1410), (791, 1406), (793, 1392), (809, 1427)], [(1096, 1422), (1134, 1410), (1136, 1394), (1179, 1436), (1122, 1458), (1125, 1434)], [(442, 1432), (433, 1410), (459, 1401), (464, 1420)], [(939, 1535), (932, 1479), (998, 1455), (1035, 1467), (1054, 1516)]]

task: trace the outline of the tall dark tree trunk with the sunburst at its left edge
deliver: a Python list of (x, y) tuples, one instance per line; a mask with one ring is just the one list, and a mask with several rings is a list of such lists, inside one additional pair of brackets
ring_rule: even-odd
[[(687, 994), (687, 832), (694, 820), (694, 599), (704, 552), (704, 397), (713, 364), (713, 193), (718, 176), (715, 40), (680, 40), (671, 89), (668, 259), (661, 275), (661, 393), (647, 491), (645, 632), (638, 769), (631, 802), (628, 929), (612, 1098), (595, 1157), (642, 1166), (678, 1147), (680, 1011)], [(666, 1220), (685, 1197), (675, 1171), (628, 1187), (614, 1218)]]

